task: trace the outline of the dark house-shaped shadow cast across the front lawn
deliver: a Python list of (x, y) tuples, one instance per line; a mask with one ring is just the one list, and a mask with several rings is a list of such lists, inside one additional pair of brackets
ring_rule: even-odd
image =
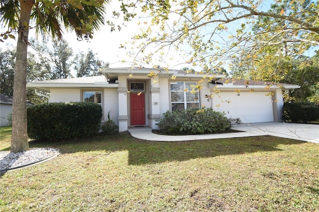
[(113, 137), (100, 136), (45, 144), (32, 141), (30, 142), (30, 147), (55, 147), (60, 149), (62, 154), (97, 150), (106, 152), (127, 150), (129, 152), (129, 165), (143, 165), (261, 151), (282, 151), (282, 149), (278, 148), (281, 144), (300, 143), (306, 142), (273, 136), (158, 142), (140, 140), (133, 138), (129, 133), (120, 133), (118, 136)]

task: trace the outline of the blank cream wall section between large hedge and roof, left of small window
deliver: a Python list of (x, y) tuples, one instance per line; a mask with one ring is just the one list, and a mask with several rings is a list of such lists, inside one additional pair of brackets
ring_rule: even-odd
[(50, 103), (80, 102), (80, 89), (51, 89)]

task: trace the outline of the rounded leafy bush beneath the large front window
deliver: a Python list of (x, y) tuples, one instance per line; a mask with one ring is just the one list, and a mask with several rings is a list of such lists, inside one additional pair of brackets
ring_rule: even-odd
[(227, 131), (231, 127), (225, 113), (210, 107), (166, 111), (158, 121), (163, 134), (208, 134)]

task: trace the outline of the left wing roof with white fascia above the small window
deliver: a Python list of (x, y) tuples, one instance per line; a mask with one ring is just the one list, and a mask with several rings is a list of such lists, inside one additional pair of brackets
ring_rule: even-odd
[(26, 87), (49, 92), (50, 88), (117, 88), (118, 84), (109, 84), (102, 75), (30, 82)]

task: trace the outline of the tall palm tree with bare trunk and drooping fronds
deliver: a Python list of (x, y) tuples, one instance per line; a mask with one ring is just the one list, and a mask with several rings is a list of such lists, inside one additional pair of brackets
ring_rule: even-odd
[[(62, 26), (74, 29), (78, 39), (89, 39), (104, 21), (107, 0), (1, 0), (0, 22), (8, 28), (2, 39), (18, 34), (13, 83), (11, 152), (28, 150), (26, 73), (29, 29), (61, 39)], [(30, 20), (32, 20), (30, 22)], [(30, 23), (34, 23), (31, 26)]]

